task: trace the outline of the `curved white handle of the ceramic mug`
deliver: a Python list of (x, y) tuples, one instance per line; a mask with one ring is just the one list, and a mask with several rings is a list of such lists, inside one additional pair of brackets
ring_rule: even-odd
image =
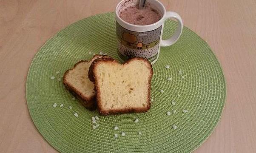
[(179, 16), (179, 14), (177, 14), (175, 12), (172, 12), (172, 11), (168, 11), (168, 12), (166, 12), (165, 20), (167, 20), (169, 18), (177, 19), (178, 20), (178, 27), (177, 27), (174, 35), (171, 38), (169, 38), (167, 40), (162, 40), (162, 37), (161, 37), (160, 46), (163, 46), (163, 47), (174, 44), (179, 39), (179, 37), (182, 33), (183, 24), (182, 24), (182, 19)]

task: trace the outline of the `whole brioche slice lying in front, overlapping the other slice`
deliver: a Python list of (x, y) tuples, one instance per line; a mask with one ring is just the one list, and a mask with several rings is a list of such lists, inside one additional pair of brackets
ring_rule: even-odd
[(124, 64), (114, 59), (95, 59), (88, 76), (95, 83), (100, 113), (148, 111), (152, 75), (151, 63), (144, 58), (132, 58)]

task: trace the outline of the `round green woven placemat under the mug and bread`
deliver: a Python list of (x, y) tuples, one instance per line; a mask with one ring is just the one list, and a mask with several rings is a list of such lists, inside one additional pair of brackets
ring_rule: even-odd
[[(163, 37), (173, 34), (175, 28), (176, 22), (166, 21)], [(86, 110), (64, 88), (61, 76), (65, 70), (100, 51), (119, 59), (114, 13), (68, 26), (34, 57), (26, 85), (28, 109), (49, 144), (63, 153), (184, 153), (208, 138), (220, 119), (226, 87), (219, 62), (198, 35), (184, 27), (178, 42), (161, 48), (153, 65), (152, 102), (147, 113), (100, 116), (97, 111)], [(91, 117), (96, 115), (99, 127), (93, 129)], [(139, 122), (134, 123), (136, 118)], [(116, 125), (118, 130), (114, 130)]]

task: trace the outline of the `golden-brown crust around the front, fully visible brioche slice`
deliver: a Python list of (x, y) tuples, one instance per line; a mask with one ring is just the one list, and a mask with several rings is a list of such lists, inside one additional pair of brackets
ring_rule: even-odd
[[(119, 109), (119, 110), (109, 110), (109, 111), (104, 111), (102, 109), (102, 102), (100, 100), (100, 89), (99, 89), (99, 85), (98, 85), (98, 81), (97, 81), (97, 77), (95, 77), (95, 68), (97, 67), (97, 65), (100, 62), (113, 62), (113, 63), (118, 63), (116, 60), (114, 59), (96, 59), (94, 60), (94, 62), (91, 64), (90, 69), (89, 69), (89, 79), (94, 82), (94, 91), (96, 94), (96, 100), (97, 100), (97, 108), (100, 112), (101, 115), (109, 115), (109, 114), (118, 114), (118, 113), (139, 113), (139, 112), (146, 112), (150, 109), (151, 107), (151, 102), (150, 102), (150, 91), (151, 91), (151, 79), (153, 76), (153, 68), (151, 63), (145, 59), (145, 58), (140, 58), (140, 57), (134, 57), (129, 59), (127, 62), (125, 62), (124, 64), (128, 64), (129, 62), (133, 61), (133, 60), (143, 60), (148, 64), (148, 68), (150, 68), (150, 76), (148, 77), (148, 99), (147, 99), (147, 107), (146, 108), (124, 108), (124, 109)], [(124, 65), (123, 64), (123, 65)]]

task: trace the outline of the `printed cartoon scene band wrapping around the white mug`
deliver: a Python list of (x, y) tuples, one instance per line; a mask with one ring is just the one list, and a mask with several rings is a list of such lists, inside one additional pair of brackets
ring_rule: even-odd
[(130, 31), (116, 24), (117, 48), (119, 57), (127, 60), (132, 57), (144, 57), (153, 61), (157, 57), (162, 26), (152, 31)]

